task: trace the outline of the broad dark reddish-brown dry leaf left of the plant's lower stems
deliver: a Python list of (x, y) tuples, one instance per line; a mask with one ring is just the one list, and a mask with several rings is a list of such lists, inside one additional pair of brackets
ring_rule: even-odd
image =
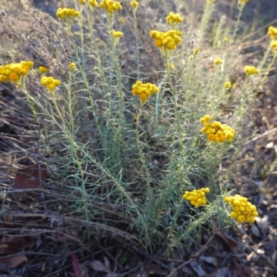
[(34, 164), (27, 168), (22, 168), (17, 170), (17, 174), (15, 175), (15, 188), (37, 188), (42, 186), (42, 181), (46, 179), (46, 176), (47, 168), (44, 164)]

